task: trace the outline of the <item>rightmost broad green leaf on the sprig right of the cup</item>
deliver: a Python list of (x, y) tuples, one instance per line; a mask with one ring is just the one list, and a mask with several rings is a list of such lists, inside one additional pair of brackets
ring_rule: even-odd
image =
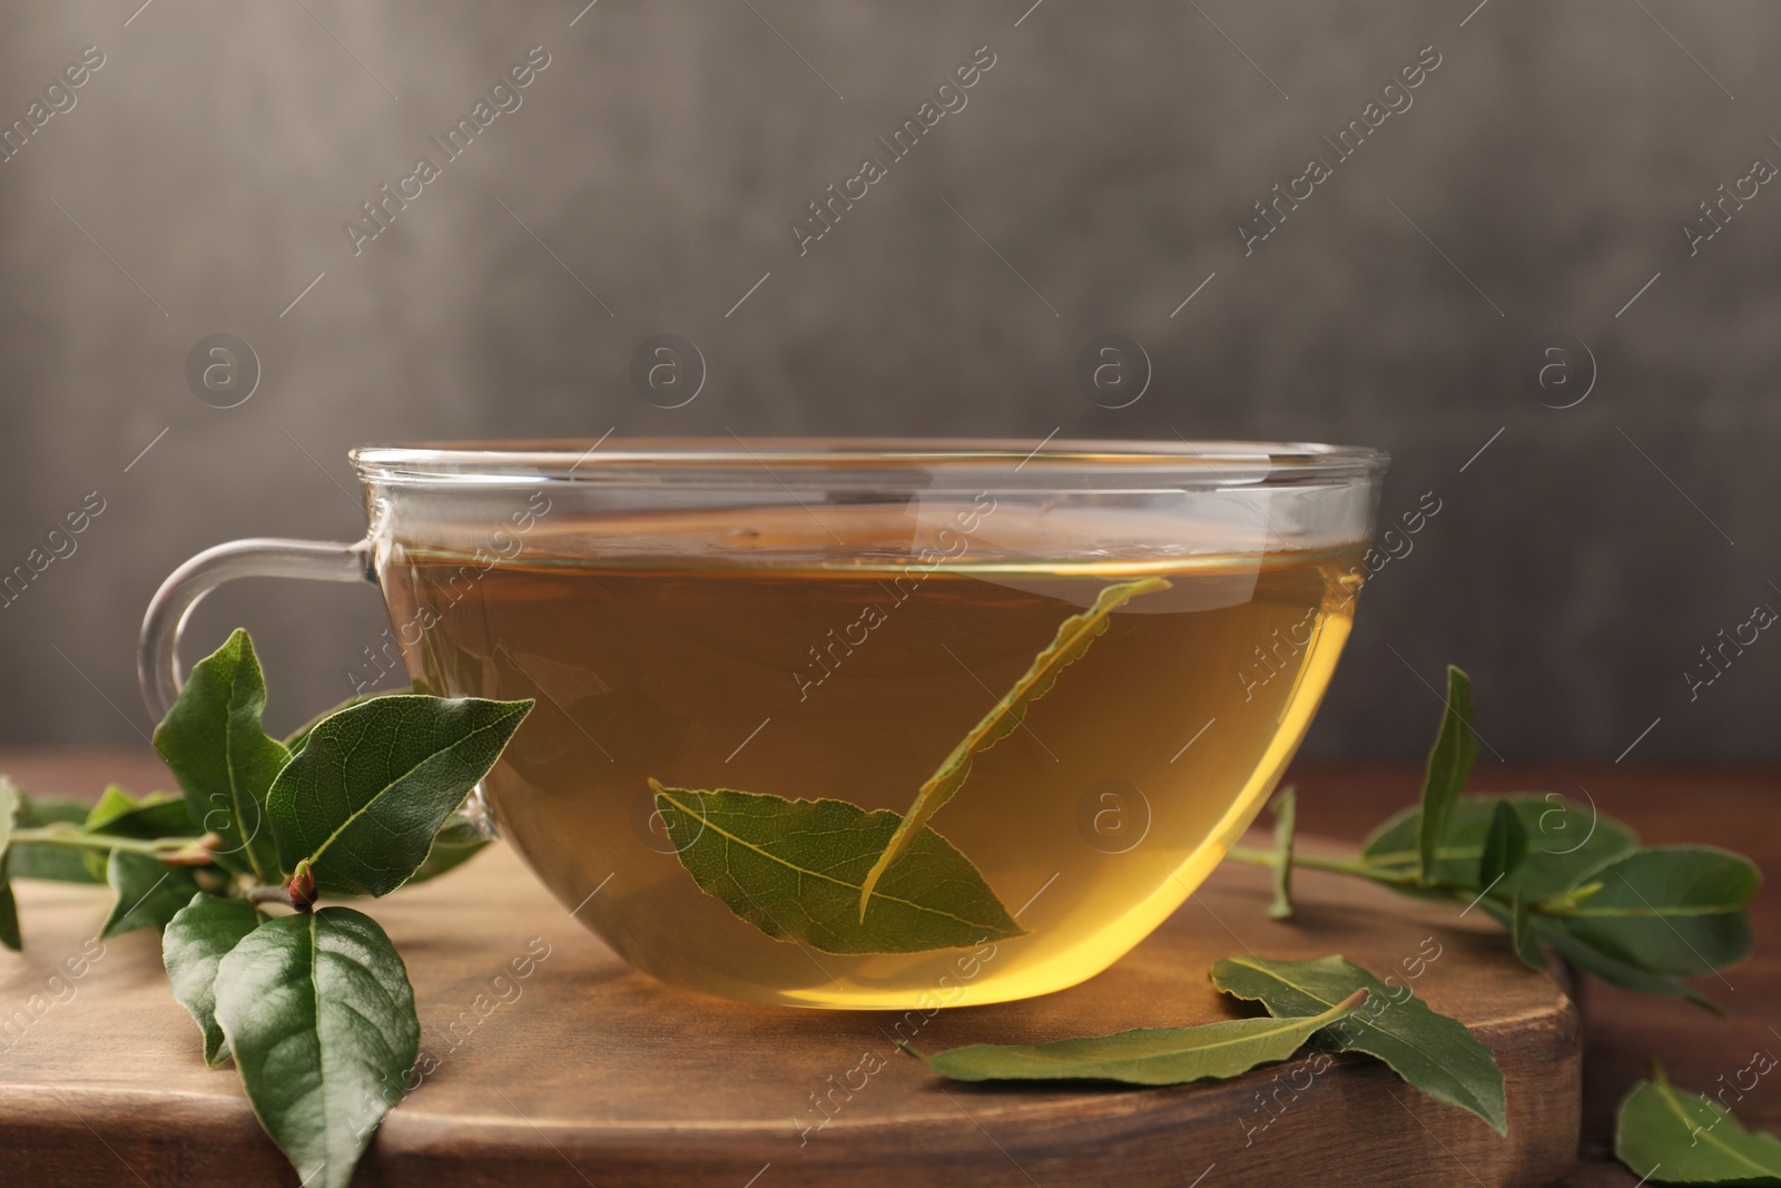
[(1592, 871), (1601, 891), (1564, 912), (1565, 930), (1655, 974), (1696, 976), (1751, 955), (1751, 896), (1763, 876), (1717, 846), (1651, 846)]

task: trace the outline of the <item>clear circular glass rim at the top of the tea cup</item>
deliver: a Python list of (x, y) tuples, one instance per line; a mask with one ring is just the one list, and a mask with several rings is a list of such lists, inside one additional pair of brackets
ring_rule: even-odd
[[(515, 442), (417, 442), (362, 445), (347, 454), (360, 479), (397, 484), (479, 481), (625, 483), (639, 472), (673, 474), (766, 470), (810, 481), (837, 470), (896, 474), (985, 472), (1008, 467), (1022, 484), (1040, 476), (1191, 477), (1195, 486), (1370, 479), (1391, 463), (1386, 451), (1316, 442), (1097, 440), (1056, 438), (582, 438)], [(814, 472), (814, 474), (812, 474)], [(762, 476), (766, 477), (766, 476)], [(768, 481), (773, 481), (771, 477)]]

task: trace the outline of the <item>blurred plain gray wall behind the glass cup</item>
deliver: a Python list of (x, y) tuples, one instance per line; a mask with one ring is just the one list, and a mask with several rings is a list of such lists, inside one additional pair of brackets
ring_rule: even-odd
[[(1421, 753), (1448, 661), (1509, 759), (1781, 755), (1781, 639), (1683, 679), (1781, 607), (1781, 187), (1692, 258), (1681, 233), (1781, 162), (1772, 4), (139, 4), (0, 9), (5, 123), (107, 55), (0, 166), (0, 570), (107, 500), (0, 609), (0, 741), (144, 732), (159, 581), (356, 536), (347, 447), (616, 426), (1386, 447), (1382, 515), (1443, 511), (1368, 591), (1309, 755)], [(354, 256), (342, 221), (534, 45), (520, 110)], [(789, 221), (981, 45), (969, 105), (800, 258)], [(1428, 45), (1414, 107), (1245, 256), (1238, 219)], [(219, 331), (264, 367), (230, 410), (182, 370)], [(627, 378), (657, 331), (711, 367), (675, 411)], [(1154, 362), (1122, 410), (1072, 379), (1108, 331)], [(1553, 333), (1599, 367), (1567, 410), (1523, 383)], [(233, 623), (274, 723), (385, 625), (365, 590), (248, 582), (196, 643)]]

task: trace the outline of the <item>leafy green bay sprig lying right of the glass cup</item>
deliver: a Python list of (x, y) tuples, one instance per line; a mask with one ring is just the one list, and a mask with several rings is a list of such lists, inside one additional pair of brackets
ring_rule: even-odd
[(1330, 858), (1293, 850), (1288, 791), (1275, 800), (1275, 846), (1238, 846), (1229, 857), (1273, 867), (1281, 914), (1291, 912), (1293, 867), (1364, 878), (1419, 899), (1476, 903), (1533, 969), (1546, 969), (1546, 953), (1557, 953), (1612, 985), (1717, 1012), (1681, 980), (1749, 956), (1747, 907), (1761, 887), (1756, 866), (1717, 846), (1642, 846), (1592, 803), (1555, 793), (1466, 796), (1476, 759), (1471, 739), (1471, 682), (1448, 668), (1419, 805), (1375, 828), (1355, 857)]

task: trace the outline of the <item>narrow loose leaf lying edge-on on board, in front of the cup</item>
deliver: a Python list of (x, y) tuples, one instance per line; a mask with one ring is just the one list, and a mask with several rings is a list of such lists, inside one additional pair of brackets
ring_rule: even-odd
[(1124, 1081), (1184, 1085), (1232, 1078), (1286, 1060), (1311, 1035), (1350, 1015), (1366, 990), (1305, 1019), (1222, 1019), (1197, 1028), (1136, 1028), (1051, 1044), (969, 1044), (921, 1060), (953, 1081)]

